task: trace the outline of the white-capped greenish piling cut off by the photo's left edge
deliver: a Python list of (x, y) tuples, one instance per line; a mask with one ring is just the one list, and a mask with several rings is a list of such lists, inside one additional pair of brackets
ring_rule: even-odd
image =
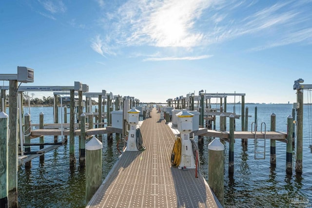
[(8, 115), (0, 112), (0, 208), (8, 208), (9, 154)]

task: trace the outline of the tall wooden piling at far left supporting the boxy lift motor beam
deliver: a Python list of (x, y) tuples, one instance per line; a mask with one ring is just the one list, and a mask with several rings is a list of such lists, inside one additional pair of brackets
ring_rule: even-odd
[(18, 142), (17, 142), (17, 121), (18, 121), (18, 81), (9, 81), (9, 194), (10, 208), (18, 208)]

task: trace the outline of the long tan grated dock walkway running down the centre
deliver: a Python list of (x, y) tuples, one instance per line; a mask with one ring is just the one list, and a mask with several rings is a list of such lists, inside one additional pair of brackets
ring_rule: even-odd
[(140, 130), (145, 151), (125, 151), (87, 208), (217, 208), (203, 177), (195, 169), (171, 166), (174, 133), (156, 109)]

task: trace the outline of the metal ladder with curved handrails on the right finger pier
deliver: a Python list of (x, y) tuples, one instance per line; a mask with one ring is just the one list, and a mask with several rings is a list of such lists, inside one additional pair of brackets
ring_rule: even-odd
[[(254, 133), (254, 159), (255, 160), (264, 160), (265, 159), (265, 140), (266, 140), (266, 124), (264, 122), (261, 123), (261, 133), (262, 133), (262, 124), (264, 124), (264, 138), (257, 138), (257, 124), (255, 122), (252, 123), (252, 133)], [(254, 127), (254, 132), (253, 132)]]

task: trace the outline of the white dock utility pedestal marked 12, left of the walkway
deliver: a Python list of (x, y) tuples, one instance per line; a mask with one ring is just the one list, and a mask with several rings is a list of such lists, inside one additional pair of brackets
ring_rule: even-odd
[(126, 151), (138, 151), (137, 149), (137, 124), (140, 111), (133, 107), (128, 113), (128, 123), (130, 125), (130, 131), (127, 141)]

